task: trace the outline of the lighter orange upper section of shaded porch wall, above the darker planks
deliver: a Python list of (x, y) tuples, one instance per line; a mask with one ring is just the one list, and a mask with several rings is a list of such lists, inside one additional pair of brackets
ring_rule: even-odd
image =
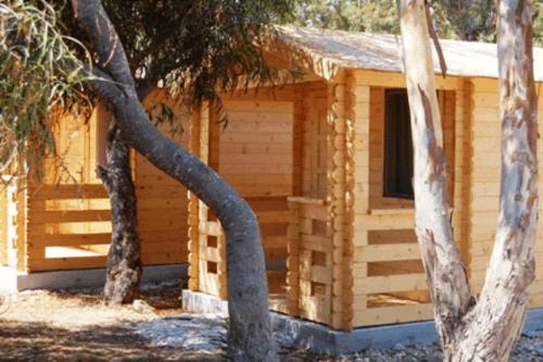
[(225, 101), (218, 171), (243, 197), (292, 192), (293, 102)]

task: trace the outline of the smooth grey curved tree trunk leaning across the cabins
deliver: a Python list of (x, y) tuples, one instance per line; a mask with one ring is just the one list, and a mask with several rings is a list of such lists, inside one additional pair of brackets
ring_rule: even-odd
[[(220, 221), (227, 244), (229, 347), (235, 361), (277, 361), (272, 333), (264, 253), (256, 216), (249, 204), (212, 168), (162, 135), (150, 122), (136, 93), (123, 46), (99, 0), (72, 0), (103, 71), (92, 80), (112, 110), (123, 139), (169, 174)], [(114, 82), (111, 82), (114, 80)]]

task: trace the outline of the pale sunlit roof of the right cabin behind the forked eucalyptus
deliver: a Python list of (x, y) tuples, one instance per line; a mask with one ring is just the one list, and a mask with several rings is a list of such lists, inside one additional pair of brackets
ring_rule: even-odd
[[(401, 38), (397, 35), (325, 30), (280, 26), (279, 39), (308, 54), (318, 63), (316, 73), (325, 78), (331, 68), (361, 68), (402, 72)], [(441, 40), (447, 74), (497, 78), (496, 45), (489, 42)], [(432, 47), (433, 48), (433, 47)], [(543, 82), (543, 48), (534, 48), (534, 77)], [(433, 49), (434, 70), (441, 74)]]

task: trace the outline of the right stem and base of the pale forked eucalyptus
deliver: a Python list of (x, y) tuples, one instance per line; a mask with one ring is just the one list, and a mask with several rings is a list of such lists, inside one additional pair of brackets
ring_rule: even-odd
[(457, 347), (458, 361), (507, 361), (534, 278), (538, 224), (538, 98), (530, 1), (497, 5), (502, 185), (495, 245), (481, 297)]

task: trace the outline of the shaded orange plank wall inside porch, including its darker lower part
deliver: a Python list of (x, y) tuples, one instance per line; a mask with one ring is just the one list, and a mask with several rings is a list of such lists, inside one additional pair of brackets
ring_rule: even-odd
[[(294, 86), (225, 95), (226, 123), (212, 125), (210, 133), (211, 148), (213, 141), (219, 145), (215, 150), (219, 174), (258, 217), (268, 262), (282, 263), (287, 258), (287, 197), (294, 184)], [(220, 120), (212, 117), (212, 122)], [(218, 136), (213, 137), (215, 133)], [(285, 283), (285, 276), (278, 283)]]

